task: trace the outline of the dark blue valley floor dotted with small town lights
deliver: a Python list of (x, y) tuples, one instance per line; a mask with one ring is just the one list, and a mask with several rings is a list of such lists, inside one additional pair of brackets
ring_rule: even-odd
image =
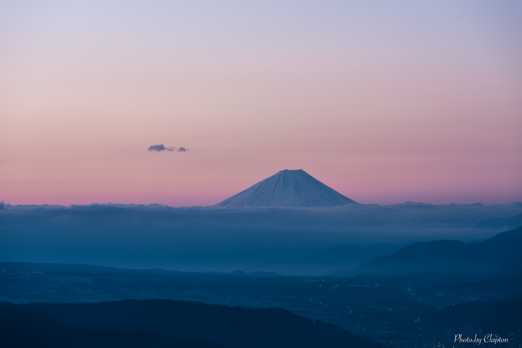
[[(140, 274), (117, 273), (117, 269), (96, 273), (39, 270), (38, 264), (20, 270), (19, 265), (11, 265), (0, 263), (0, 301), (75, 303), (169, 298), (232, 307), (281, 307), (394, 347), (469, 346), (456, 344), (455, 334), (474, 337), (489, 332), (484, 331), (487, 328), (472, 323), (444, 327), (434, 315), (459, 303), (516, 298), (521, 279), (519, 274), (494, 281), (462, 282), (459, 274), (331, 278)], [(516, 323), (493, 333), (509, 339), (501, 346), (519, 346), (522, 342), (522, 330)]]

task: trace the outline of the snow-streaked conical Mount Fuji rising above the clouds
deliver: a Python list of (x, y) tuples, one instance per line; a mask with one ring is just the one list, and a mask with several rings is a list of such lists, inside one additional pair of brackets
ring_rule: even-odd
[(283, 170), (234, 195), (216, 207), (336, 207), (355, 203), (300, 170)]

